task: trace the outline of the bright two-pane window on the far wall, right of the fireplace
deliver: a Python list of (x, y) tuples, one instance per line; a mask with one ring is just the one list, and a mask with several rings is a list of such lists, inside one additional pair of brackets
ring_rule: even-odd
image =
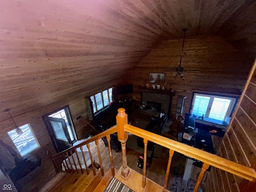
[(236, 98), (194, 93), (190, 112), (192, 114), (222, 120), (230, 116)]

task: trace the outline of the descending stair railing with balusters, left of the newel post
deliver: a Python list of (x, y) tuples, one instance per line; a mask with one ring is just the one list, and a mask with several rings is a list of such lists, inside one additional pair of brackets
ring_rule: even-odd
[[(114, 172), (114, 164), (113, 164), (113, 160), (112, 160), (112, 153), (111, 153), (111, 148), (110, 148), (110, 134), (113, 134), (117, 132), (117, 126), (113, 126), (112, 128), (109, 128), (108, 130), (96, 135), (96, 136), (93, 136), (92, 138), (76, 145), (76, 146), (73, 146), (63, 152), (60, 152), (54, 156), (52, 156), (52, 162), (54, 164), (54, 168), (56, 170), (56, 172), (62, 172), (62, 164), (63, 164), (63, 167), (65, 168), (65, 172), (80, 172), (82, 174), (84, 174), (84, 170), (82, 169), (82, 164), (84, 163), (85, 164), (85, 167), (86, 167), (86, 174), (88, 175), (89, 174), (89, 170), (88, 170), (88, 165), (86, 164), (86, 159), (85, 159), (85, 156), (84, 156), (84, 153), (82, 152), (82, 156), (83, 156), (83, 163), (81, 164), (80, 162), (80, 159), (78, 157), (78, 152), (77, 152), (77, 148), (80, 148), (81, 151), (83, 151), (83, 146), (87, 146), (88, 148), (88, 152), (89, 152), (89, 155), (90, 155), (90, 160), (92, 162), (92, 171), (93, 171), (93, 174), (94, 176), (96, 175), (96, 171), (95, 171), (95, 167), (94, 167), (94, 164), (93, 164), (93, 158), (92, 158), (92, 153), (90, 151), (90, 142), (95, 142), (96, 146), (97, 146), (97, 151), (98, 151), (98, 156), (99, 156), (99, 161), (100, 161), (100, 171), (101, 171), (101, 174), (102, 176), (104, 176), (104, 169), (103, 169), (103, 166), (102, 166), (102, 160), (101, 160), (101, 156), (100, 156), (100, 150), (99, 150), (99, 143), (98, 143), (98, 140), (100, 138), (103, 138), (106, 136), (107, 138), (107, 141), (108, 141), (108, 148), (109, 148), (109, 153), (110, 153), (110, 162), (111, 162), (111, 172), (112, 172), (112, 176), (115, 175), (115, 172)], [(71, 160), (70, 158), (72, 158), (72, 161), (75, 162), (74, 160), (74, 155), (76, 155), (76, 158), (78, 160), (78, 164), (79, 164), (79, 168), (78, 168), (78, 165), (76, 165), (76, 163), (74, 163), (74, 166), (75, 166), (75, 169), (72, 168), (72, 165), (71, 165)], [(68, 159), (68, 160), (66, 160)], [(69, 168), (68, 166), (68, 162), (70, 164), (70, 167), (71, 169)]]

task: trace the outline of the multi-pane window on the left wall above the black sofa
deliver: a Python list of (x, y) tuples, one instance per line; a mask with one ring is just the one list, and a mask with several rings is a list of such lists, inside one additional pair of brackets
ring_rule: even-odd
[[(90, 97), (92, 100), (93, 112), (96, 113), (112, 102), (112, 88), (104, 90)], [(95, 102), (96, 101), (96, 102)]]

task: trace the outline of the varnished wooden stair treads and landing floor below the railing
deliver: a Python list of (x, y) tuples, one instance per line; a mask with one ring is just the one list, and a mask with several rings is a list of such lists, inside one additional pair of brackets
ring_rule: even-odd
[[(115, 178), (121, 181), (135, 192), (162, 192), (162, 186), (146, 180), (145, 188), (142, 188), (142, 175), (130, 169), (130, 176), (128, 180), (121, 176), (121, 168), (115, 169)], [(90, 171), (89, 175), (81, 173), (61, 173), (53, 178), (43, 189), (39, 192), (103, 192), (108, 186), (112, 178), (111, 169), (102, 177), (100, 170), (96, 170), (96, 176)], [(169, 192), (167, 190), (167, 192)]]

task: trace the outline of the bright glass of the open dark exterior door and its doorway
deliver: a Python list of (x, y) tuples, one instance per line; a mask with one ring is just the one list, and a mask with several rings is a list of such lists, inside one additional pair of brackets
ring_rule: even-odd
[[(74, 132), (73, 132), (73, 128), (72, 128), (72, 123), (70, 121), (70, 118), (69, 119), (67, 118), (67, 113), (68, 113), (67, 110), (68, 110), (67, 108), (64, 108), (54, 114), (48, 115), (48, 117), (64, 119), (66, 122), (66, 126), (68, 128), (68, 133), (69, 133), (70, 139), (71, 139), (71, 141), (74, 141), (75, 138), (74, 138)], [(63, 138), (64, 140), (66, 140), (66, 136), (64, 135), (64, 131), (63, 131), (63, 127), (61, 126), (61, 123), (51, 121), (51, 124), (52, 124), (52, 127), (53, 127), (56, 137), (57, 138), (59, 137), (59, 139)], [(70, 126), (70, 124), (71, 124), (71, 126)]]

